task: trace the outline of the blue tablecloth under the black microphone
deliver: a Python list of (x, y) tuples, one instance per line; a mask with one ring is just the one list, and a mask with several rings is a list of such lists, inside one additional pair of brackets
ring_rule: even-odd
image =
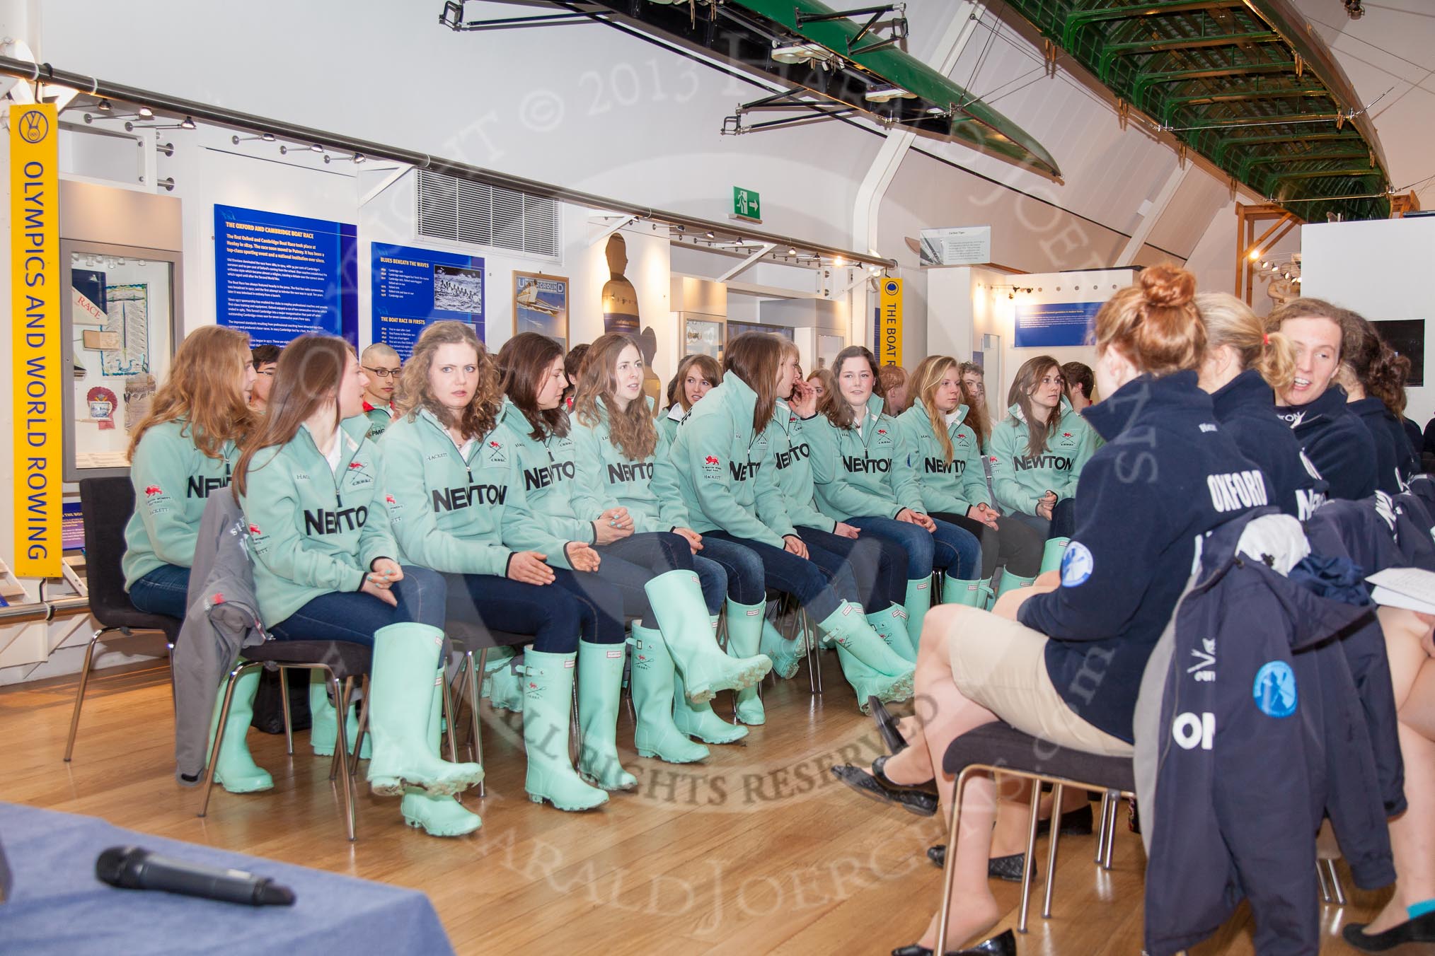
[[(14, 887), (0, 903), (0, 953), (452, 953), (429, 897), (192, 843), (103, 820), (0, 803), (0, 843)], [(234, 867), (294, 890), (294, 906), (234, 906), (171, 893), (118, 890), (95, 857), (139, 846), (189, 863)]]

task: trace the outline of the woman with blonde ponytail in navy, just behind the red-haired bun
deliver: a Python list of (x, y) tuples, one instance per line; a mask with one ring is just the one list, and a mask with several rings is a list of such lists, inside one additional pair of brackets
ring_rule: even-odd
[(1270, 479), (1280, 509), (1306, 520), (1326, 499), (1326, 483), (1276, 414), (1276, 396), (1296, 378), (1294, 347), (1280, 333), (1264, 333), (1256, 312), (1228, 292), (1201, 292), (1195, 307), (1205, 325), (1200, 381), (1215, 420)]

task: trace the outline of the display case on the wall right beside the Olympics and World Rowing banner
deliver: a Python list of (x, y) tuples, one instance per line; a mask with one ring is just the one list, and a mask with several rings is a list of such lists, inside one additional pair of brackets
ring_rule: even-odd
[(62, 239), (60, 262), (65, 480), (128, 474), (131, 431), (181, 338), (182, 257)]

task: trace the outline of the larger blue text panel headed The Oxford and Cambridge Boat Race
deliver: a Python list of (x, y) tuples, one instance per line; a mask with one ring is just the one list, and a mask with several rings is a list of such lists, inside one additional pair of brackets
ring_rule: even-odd
[(327, 333), (357, 347), (357, 226), (215, 205), (214, 272), (217, 321), (251, 345)]

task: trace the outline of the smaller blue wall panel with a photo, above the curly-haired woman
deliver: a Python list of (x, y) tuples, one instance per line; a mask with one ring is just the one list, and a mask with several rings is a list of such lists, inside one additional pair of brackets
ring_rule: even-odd
[(469, 322), (484, 340), (484, 259), (375, 242), (370, 255), (373, 341), (408, 361), (429, 322)]

